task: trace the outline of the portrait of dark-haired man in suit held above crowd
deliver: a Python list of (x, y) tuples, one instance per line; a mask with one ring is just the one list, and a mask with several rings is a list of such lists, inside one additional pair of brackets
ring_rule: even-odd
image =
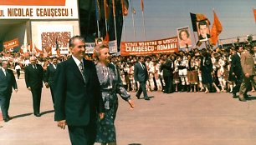
[(211, 38), (209, 24), (207, 20), (197, 22), (197, 32), (199, 41), (207, 41)]

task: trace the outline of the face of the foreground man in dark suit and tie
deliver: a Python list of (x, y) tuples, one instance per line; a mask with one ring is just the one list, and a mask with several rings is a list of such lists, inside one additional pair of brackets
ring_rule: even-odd
[(71, 47), (71, 52), (74, 57), (81, 60), (85, 54), (85, 42), (79, 39), (74, 39), (74, 47)]

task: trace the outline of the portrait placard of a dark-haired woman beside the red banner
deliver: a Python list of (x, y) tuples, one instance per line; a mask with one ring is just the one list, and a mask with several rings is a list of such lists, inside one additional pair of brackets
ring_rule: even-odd
[(177, 36), (179, 40), (179, 46), (182, 47), (192, 47), (192, 40), (190, 37), (189, 28), (178, 28), (177, 29)]

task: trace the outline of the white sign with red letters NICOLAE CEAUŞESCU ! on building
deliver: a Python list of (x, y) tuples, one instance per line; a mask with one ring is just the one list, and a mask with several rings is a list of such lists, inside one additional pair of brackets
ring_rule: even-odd
[[(8, 1), (8, 0), (4, 0)], [(38, 0), (40, 1), (40, 0)], [(56, 0), (54, 0), (56, 1)], [(78, 4), (74, 0), (64, 0), (60, 5), (26, 5), (30, 1), (18, 2), (22, 5), (0, 5), (1, 19), (78, 19)], [(0, 2), (1, 3), (1, 2)], [(33, 3), (33, 2), (32, 2)], [(40, 2), (36, 2), (40, 3)], [(42, 2), (43, 3), (43, 2)], [(49, 2), (47, 2), (49, 3)]]

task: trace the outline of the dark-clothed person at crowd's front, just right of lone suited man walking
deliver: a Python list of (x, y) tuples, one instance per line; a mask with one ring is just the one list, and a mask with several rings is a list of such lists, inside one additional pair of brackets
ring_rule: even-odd
[(173, 76), (171, 71), (172, 62), (167, 57), (167, 55), (163, 55), (160, 60), (160, 72), (162, 71), (162, 75), (165, 82), (164, 93), (172, 93), (173, 87)]

